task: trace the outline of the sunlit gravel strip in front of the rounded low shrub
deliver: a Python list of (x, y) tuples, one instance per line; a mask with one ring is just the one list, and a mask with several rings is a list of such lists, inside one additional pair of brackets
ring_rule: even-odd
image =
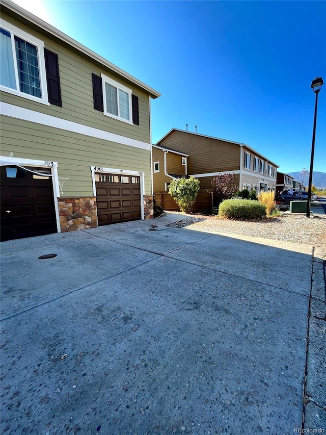
[(250, 222), (220, 219), (216, 216), (187, 215), (185, 219), (166, 226), (308, 244), (326, 250), (326, 215), (315, 215), (310, 219), (279, 216)]

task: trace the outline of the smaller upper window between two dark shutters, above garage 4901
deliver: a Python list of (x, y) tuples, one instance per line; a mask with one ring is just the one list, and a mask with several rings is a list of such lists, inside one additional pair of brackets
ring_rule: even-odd
[(131, 121), (131, 89), (101, 74), (104, 99), (104, 115), (124, 122)]

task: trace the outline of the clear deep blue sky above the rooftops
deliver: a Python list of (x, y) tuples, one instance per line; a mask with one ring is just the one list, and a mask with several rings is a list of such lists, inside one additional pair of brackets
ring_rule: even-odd
[(172, 127), (247, 143), (283, 172), (326, 172), (326, 2), (16, 0), (161, 92), (152, 141)]

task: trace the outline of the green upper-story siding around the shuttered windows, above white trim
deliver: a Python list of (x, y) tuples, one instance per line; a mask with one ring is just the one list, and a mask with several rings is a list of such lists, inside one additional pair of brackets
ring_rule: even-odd
[[(112, 73), (108, 72), (108, 70), (99, 68), (90, 61), (78, 56), (72, 50), (31, 30), (29, 27), (26, 27), (13, 18), (5, 14), (2, 14), (2, 18), (26, 33), (41, 39), (45, 43), (45, 48), (58, 54), (63, 107), (53, 105), (46, 106), (7, 92), (2, 92), (2, 101), (25, 109), (88, 125), (106, 132), (112, 132), (117, 135), (150, 143), (148, 94), (133, 87), (129, 83), (118, 80)], [(140, 125), (131, 125), (105, 116), (103, 113), (94, 110), (92, 72), (98, 75), (103, 73), (111, 77), (113, 80), (127, 86), (132, 90), (134, 95), (138, 96)]]

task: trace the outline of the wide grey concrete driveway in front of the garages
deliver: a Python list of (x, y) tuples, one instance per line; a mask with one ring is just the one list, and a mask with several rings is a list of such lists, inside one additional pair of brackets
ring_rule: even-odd
[(2, 433), (301, 427), (312, 248), (169, 219), (2, 243)]

